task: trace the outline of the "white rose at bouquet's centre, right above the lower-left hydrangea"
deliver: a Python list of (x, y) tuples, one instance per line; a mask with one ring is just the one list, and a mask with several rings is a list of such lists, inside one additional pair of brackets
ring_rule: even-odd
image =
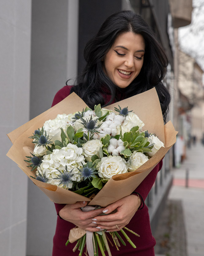
[(91, 161), (91, 156), (97, 155), (99, 157), (99, 149), (102, 148), (102, 142), (98, 139), (88, 140), (83, 147), (83, 155), (87, 161)]

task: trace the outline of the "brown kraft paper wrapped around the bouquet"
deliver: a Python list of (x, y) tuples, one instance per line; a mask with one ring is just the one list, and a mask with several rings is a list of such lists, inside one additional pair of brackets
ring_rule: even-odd
[(137, 188), (175, 143), (177, 134), (171, 121), (164, 125), (160, 102), (155, 88), (121, 100), (106, 108), (114, 110), (114, 107), (117, 107), (118, 104), (122, 108), (128, 106), (129, 110), (133, 110), (144, 122), (145, 126), (143, 130), (155, 133), (164, 142), (165, 148), (160, 148), (150, 160), (140, 166), (136, 171), (112, 177), (92, 200), (69, 190), (59, 188), (56, 185), (43, 183), (31, 178), (30, 175), (34, 176), (35, 171), (31, 172), (30, 168), (26, 166), (27, 163), (24, 161), (25, 156), (29, 156), (30, 152), (33, 152), (34, 144), (32, 143), (32, 139), (28, 139), (28, 137), (32, 135), (35, 129), (41, 128), (46, 120), (54, 119), (57, 114), (70, 114), (82, 111), (86, 107), (83, 100), (75, 93), (72, 93), (54, 107), (33, 118), (13, 132), (10, 132), (8, 137), (13, 145), (7, 156), (17, 163), (20, 169), (24, 171), (51, 201), (59, 204), (90, 201), (89, 205), (107, 206), (131, 194)]

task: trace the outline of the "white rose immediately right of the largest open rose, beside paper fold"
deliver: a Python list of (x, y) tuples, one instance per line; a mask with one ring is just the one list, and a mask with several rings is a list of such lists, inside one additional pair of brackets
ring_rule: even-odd
[[(131, 162), (130, 162), (131, 161)], [(127, 161), (127, 167), (129, 172), (135, 171), (138, 167), (148, 161), (148, 157), (141, 152), (133, 152), (130, 156), (130, 161)], [(131, 163), (131, 164), (130, 164)]]

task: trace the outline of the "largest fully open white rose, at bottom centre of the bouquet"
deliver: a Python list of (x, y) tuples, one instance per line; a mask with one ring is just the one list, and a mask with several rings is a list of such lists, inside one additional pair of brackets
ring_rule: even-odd
[(126, 161), (120, 156), (103, 157), (97, 165), (98, 175), (110, 179), (115, 174), (127, 173)]

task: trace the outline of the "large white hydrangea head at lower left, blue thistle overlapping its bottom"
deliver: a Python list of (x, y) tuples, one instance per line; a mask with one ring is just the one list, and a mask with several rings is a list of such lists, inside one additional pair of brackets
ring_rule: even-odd
[[(50, 179), (48, 183), (59, 185), (60, 180), (54, 180), (53, 178), (57, 178), (60, 174), (58, 170), (62, 172), (66, 166), (67, 170), (72, 170), (72, 174), (74, 174), (71, 180), (80, 181), (81, 177), (77, 168), (80, 169), (83, 166), (82, 164), (85, 164), (82, 152), (82, 148), (78, 148), (76, 145), (69, 143), (66, 147), (54, 149), (52, 154), (45, 155), (40, 164), (40, 169), (45, 173), (45, 176)], [(71, 183), (68, 188), (71, 188), (70, 186), (72, 187)], [(63, 185), (60, 185), (60, 187), (63, 187)]]

